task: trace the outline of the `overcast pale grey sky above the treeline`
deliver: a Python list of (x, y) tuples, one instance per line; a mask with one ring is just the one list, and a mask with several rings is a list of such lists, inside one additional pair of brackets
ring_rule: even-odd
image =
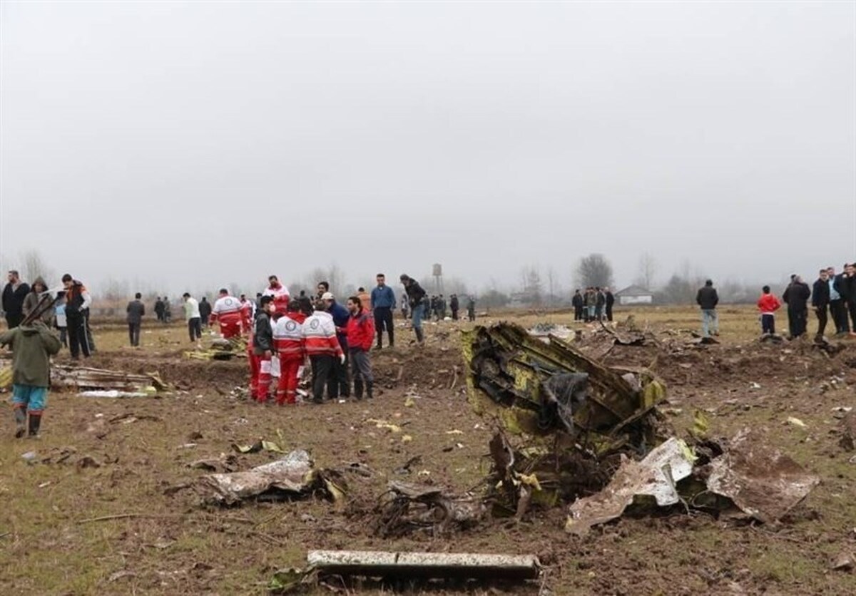
[(856, 259), (854, 3), (14, 3), (5, 263), (170, 292)]

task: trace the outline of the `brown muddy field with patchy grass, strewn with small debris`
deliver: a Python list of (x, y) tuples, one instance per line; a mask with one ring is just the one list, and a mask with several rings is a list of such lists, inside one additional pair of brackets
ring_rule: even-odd
[[(845, 341), (834, 355), (808, 341), (760, 344), (753, 310), (730, 309), (721, 313), (720, 345), (690, 346), (680, 330), (698, 328), (698, 311), (620, 317), (628, 314), (658, 343), (616, 345), (604, 362), (651, 367), (668, 385), (662, 408), (678, 436), (692, 426), (693, 411), (704, 410), (712, 435), (752, 427), (821, 477), (782, 523), (678, 508), (624, 516), (578, 538), (564, 531), (567, 507), (559, 506), (533, 509), (520, 522), (489, 519), (450, 534), (383, 539), (377, 503), (389, 480), (458, 493), (482, 488), (496, 422), (467, 404), (460, 349), (466, 323), (429, 326), (421, 349), (407, 345), (411, 334), (399, 329), (401, 347), (373, 355), (380, 391), (371, 402), (286, 408), (251, 404), (233, 391), (246, 385), (244, 361), (183, 357), (189, 344), (180, 324), (149, 323), (139, 350), (123, 347), (124, 329), (107, 326), (96, 331), (99, 351), (89, 364), (157, 371), (174, 390), (126, 399), (54, 392), (40, 440), (13, 439), (11, 412), (3, 416), (3, 593), (265, 593), (274, 571), (302, 566), (307, 550), (346, 548), (532, 553), (545, 569), (541, 581), (522, 585), (349, 586), (365, 593), (856, 593), (856, 572), (830, 566), (841, 552), (856, 552), (856, 459), (838, 445), (835, 411), (856, 406), (856, 342)], [(569, 323), (556, 313), (504, 318), (526, 326)], [(287, 450), (306, 449), (318, 467), (342, 471), (345, 503), (318, 497), (200, 505), (188, 485), (205, 471), (188, 464), (221, 455), (234, 456), (235, 469), (272, 461), (276, 453), (239, 454), (232, 445), (280, 440), (277, 432)], [(28, 451), (36, 453), (33, 462), (21, 457)]]

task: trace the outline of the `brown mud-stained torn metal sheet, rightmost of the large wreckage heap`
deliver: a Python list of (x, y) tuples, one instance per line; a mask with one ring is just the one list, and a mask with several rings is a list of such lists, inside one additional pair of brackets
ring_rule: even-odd
[(761, 522), (779, 520), (820, 482), (799, 463), (744, 428), (709, 464), (707, 487)]

